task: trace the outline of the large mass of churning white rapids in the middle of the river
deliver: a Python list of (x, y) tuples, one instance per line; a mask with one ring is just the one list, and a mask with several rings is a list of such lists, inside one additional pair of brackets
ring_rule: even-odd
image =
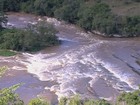
[[(140, 76), (125, 62), (108, 55), (108, 52), (98, 52), (102, 44), (104, 43), (95, 42), (79, 45), (57, 56), (24, 54), (28, 58), (24, 63), (28, 72), (35, 74), (41, 81), (56, 81), (58, 85), (46, 89), (54, 91), (59, 98), (77, 93), (83, 97), (92, 97), (94, 95), (88, 88), (92, 88), (95, 80), (99, 78), (120, 91), (137, 89)], [(82, 86), (82, 83), (85, 85)]]

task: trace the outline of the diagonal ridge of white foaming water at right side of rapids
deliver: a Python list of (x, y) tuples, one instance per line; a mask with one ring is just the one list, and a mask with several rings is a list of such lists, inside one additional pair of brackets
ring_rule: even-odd
[[(112, 60), (111, 60), (112, 59)], [(112, 61), (110, 63), (110, 60)], [(113, 57), (97, 59), (107, 70), (114, 74), (121, 81), (126, 82), (131, 88), (138, 89), (140, 84), (140, 76), (135, 73), (126, 63), (119, 61)]]

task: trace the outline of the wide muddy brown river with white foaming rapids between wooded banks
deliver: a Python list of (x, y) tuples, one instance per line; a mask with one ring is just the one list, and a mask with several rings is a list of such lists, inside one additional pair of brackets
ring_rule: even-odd
[(23, 28), (42, 18), (59, 31), (61, 45), (0, 57), (0, 66), (8, 66), (0, 88), (22, 82), (17, 93), (25, 102), (40, 96), (52, 104), (75, 94), (114, 102), (119, 93), (138, 89), (140, 38), (104, 38), (53, 18), (19, 13), (8, 15), (8, 25)]

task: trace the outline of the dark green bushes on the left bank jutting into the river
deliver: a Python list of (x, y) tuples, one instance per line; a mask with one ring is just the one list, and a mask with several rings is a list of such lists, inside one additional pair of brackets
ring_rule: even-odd
[[(0, 3), (1, 4), (1, 3)], [(4, 28), (7, 17), (3, 9), (0, 11), (0, 55), (14, 55), (16, 51), (37, 51), (44, 47), (59, 44), (57, 30), (50, 24), (42, 21), (37, 24), (28, 24), (25, 29)], [(8, 50), (3, 50), (8, 49)], [(4, 54), (5, 53), (5, 54)]]

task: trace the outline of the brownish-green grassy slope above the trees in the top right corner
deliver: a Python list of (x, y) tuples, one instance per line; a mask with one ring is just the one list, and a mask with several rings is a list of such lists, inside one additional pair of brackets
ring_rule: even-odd
[(108, 4), (112, 12), (121, 16), (136, 16), (140, 15), (140, 2), (132, 0), (102, 0)]

